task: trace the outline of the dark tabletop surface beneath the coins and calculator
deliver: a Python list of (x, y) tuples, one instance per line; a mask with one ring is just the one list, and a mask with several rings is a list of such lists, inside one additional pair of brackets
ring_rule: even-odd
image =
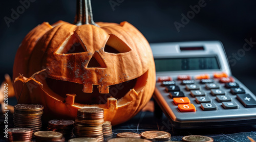
[[(11, 99), (12, 102), (14, 99)], [(13, 116), (8, 116), (8, 127), (13, 127)], [(0, 141), (6, 141), (3, 135), (4, 130), (4, 115), (0, 117)], [(45, 125), (46, 126), (46, 125)], [(112, 127), (113, 136), (116, 137), (117, 133), (121, 132), (135, 132), (141, 133), (150, 130), (167, 131), (172, 135), (171, 140), (181, 141), (185, 135), (205, 135), (214, 138), (214, 141), (250, 141), (247, 136), (256, 139), (256, 126), (243, 126), (243, 127), (230, 127), (230, 128), (209, 128), (209, 129), (174, 129), (169, 123), (164, 114), (159, 119), (155, 116), (154, 112), (141, 111), (133, 119)], [(105, 140), (106, 141), (106, 138)]]

